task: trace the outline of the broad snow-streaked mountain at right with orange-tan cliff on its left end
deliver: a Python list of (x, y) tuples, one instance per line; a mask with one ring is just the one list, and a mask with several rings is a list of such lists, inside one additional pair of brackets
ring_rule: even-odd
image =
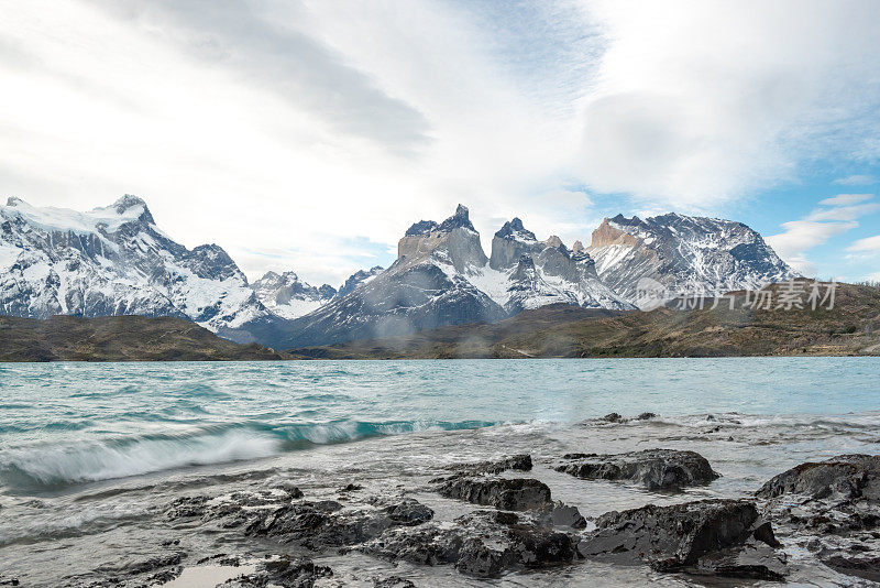
[(755, 290), (799, 276), (746, 225), (674, 213), (645, 220), (606, 218), (586, 251), (602, 281), (630, 302), (637, 302), (644, 279), (672, 295), (694, 295)]

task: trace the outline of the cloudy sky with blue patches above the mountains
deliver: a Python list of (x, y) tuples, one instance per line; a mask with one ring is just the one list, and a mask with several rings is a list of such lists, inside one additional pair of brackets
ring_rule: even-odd
[(195, 247), (340, 284), (461, 203), (758, 230), (880, 280), (880, 2), (0, 0), (0, 197), (123, 194)]

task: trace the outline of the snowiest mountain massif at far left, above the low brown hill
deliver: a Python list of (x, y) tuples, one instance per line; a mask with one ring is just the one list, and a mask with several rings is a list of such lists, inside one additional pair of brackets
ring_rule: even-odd
[(0, 314), (175, 316), (239, 339), (271, 316), (222, 248), (176, 243), (130, 195), (88, 213), (0, 206)]

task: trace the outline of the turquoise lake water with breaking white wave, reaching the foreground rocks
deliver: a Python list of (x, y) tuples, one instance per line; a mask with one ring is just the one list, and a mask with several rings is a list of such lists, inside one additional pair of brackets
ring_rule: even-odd
[[(610, 412), (659, 417), (591, 421)], [(585, 515), (743, 496), (806, 459), (878, 453), (880, 360), (0, 363), (0, 580), (88, 585), (145, 537), (179, 538), (156, 513), (194, 489), (282, 476), (318, 492), (356, 471), (376, 491), (391, 480), (418, 491), (455, 460), (657, 446), (698, 450), (724, 478), (668, 497), (536, 469)], [(233, 540), (187, 541), (207, 553)], [(57, 560), (63, 571), (46, 566)]]

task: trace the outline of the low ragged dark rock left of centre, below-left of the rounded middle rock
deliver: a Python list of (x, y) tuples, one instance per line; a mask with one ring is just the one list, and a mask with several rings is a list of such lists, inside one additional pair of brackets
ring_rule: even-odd
[(332, 500), (299, 502), (260, 513), (245, 534), (282, 537), (319, 549), (356, 545), (393, 526), (418, 525), (432, 518), (431, 509), (413, 499), (348, 510)]

